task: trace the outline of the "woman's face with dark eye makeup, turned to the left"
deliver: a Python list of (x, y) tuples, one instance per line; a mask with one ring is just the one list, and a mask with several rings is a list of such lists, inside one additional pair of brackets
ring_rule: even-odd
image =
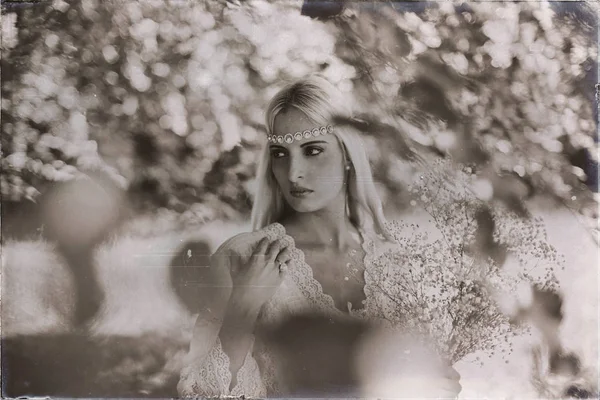
[[(273, 134), (293, 134), (317, 127), (304, 113), (292, 109), (275, 117)], [(344, 201), (344, 156), (334, 135), (269, 143), (269, 149), (275, 180), (295, 211), (317, 211), (334, 201)]]

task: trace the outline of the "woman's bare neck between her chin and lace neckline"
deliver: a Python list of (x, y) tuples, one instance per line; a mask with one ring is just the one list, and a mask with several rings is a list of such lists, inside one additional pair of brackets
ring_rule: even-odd
[(294, 212), (282, 221), (291, 228), (297, 239), (315, 246), (333, 247), (338, 250), (350, 245), (350, 235), (356, 228), (346, 213), (345, 202), (333, 202), (317, 211)]

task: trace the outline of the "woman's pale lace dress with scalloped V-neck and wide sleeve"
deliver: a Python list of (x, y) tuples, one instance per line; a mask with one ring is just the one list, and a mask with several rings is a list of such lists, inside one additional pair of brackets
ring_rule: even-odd
[[(266, 228), (268, 235), (286, 237), (285, 229), (280, 224), (272, 224)], [(374, 236), (361, 233), (361, 243), (365, 252), (365, 299), (363, 307), (357, 310), (349, 309), (351, 316), (359, 318), (385, 319), (385, 296), (380, 296), (377, 290), (381, 281), (375, 281), (375, 271), (370, 260), (379, 253), (380, 241)], [(292, 246), (292, 261), (289, 264), (288, 274), (271, 300), (265, 304), (259, 315), (257, 324), (270, 324), (283, 317), (306, 311), (320, 312), (327, 315), (347, 315), (339, 310), (333, 298), (325, 293), (321, 284), (313, 277), (311, 267), (305, 262), (304, 253)], [(376, 272), (381, 274), (381, 271)], [(383, 315), (382, 315), (383, 312)], [(390, 315), (394, 310), (389, 310)], [(378, 318), (379, 317), (379, 318)], [(207, 340), (202, 345), (205, 351), (196, 352), (201, 355), (190, 357), (188, 364), (182, 369), (178, 392), (181, 397), (224, 397), (245, 396), (264, 398), (276, 396), (285, 392), (281, 380), (277, 377), (276, 368), (273, 366), (271, 354), (259, 340), (255, 340), (248, 352), (243, 366), (237, 373), (237, 384), (230, 390), (232, 380), (229, 370), (229, 358), (221, 348), (221, 343), (216, 331), (207, 334)]]

